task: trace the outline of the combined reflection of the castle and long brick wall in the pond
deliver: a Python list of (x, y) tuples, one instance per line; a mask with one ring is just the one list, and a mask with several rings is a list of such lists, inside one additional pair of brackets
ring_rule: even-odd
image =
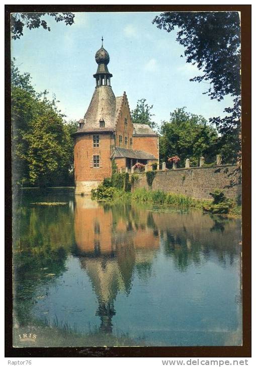
[(182, 272), (207, 261), (232, 265), (240, 252), (238, 221), (199, 211), (161, 213), (134, 203), (99, 205), (77, 197), (74, 231), (75, 255), (92, 282), (99, 302), (96, 315), (106, 332), (112, 332), (117, 294), (129, 295), (135, 274), (142, 282), (150, 281), (160, 249)]

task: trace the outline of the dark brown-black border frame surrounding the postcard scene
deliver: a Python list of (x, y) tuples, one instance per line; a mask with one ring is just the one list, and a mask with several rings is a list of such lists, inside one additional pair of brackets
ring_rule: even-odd
[[(12, 190), (10, 13), (241, 12), (243, 345), (191, 347), (14, 348), (12, 346)], [(5, 6), (5, 350), (6, 357), (250, 357), (251, 356), (251, 5), (6, 5)]]

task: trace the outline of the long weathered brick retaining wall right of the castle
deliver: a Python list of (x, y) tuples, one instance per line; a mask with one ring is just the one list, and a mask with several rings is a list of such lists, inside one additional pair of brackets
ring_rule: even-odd
[[(157, 171), (152, 190), (184, 194), (196, 199), (212, 199), (210, 193), (214, 189), (221, 189), (227, 198), (236, 198), (241, 194), (241, 185), (238, 183), (239, 173), (236, 168), (235, 165), (221, 165)], [(146, 174), (142, 172), (138, 175), (140, 180), (133, 189), (149, 189)]]

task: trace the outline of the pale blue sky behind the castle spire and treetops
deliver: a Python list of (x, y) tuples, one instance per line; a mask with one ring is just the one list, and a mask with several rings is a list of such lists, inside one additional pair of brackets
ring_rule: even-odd
[(115, 96), (126, 91), (131, 109), (138, 99), (153, 105), (153, 120), (160, 124), (178, 107), (203, 115), (223, 116), (232, 98), (213, 101), (202, 93), (209, 84), (191, 82), (200, 71), (180, 57), (184, 48), (176, 32), (167, 33), (152, 24), (159, 13), (75, 13), (75, 23), (66, 26), (49, 20), (51, 31), (24, 29), (12, 41), (12, 57), (22, 72), (31, 73), (37, 91), (56, 95), (66, 119), (79, 120), (91, 101), (97, 70), (95, 53), (101, 47), (110, 54), (109, 71)]

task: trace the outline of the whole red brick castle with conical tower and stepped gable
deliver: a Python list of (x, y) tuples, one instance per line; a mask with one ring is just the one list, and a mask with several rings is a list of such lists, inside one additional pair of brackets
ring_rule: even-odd
[[(102, 39), (103, 41), (103, 39)], [(74, 133), (76, 195), (90, 195), (112, 174), (112, 161), (128, 171), (137, 163), (158, 163), (158, 135), (145, 124), (133, 124), (126, 93), (115, 97), (108, 70), (109, 54), (103, 47), (95, 55), (96, 88), (83, 119)]]

